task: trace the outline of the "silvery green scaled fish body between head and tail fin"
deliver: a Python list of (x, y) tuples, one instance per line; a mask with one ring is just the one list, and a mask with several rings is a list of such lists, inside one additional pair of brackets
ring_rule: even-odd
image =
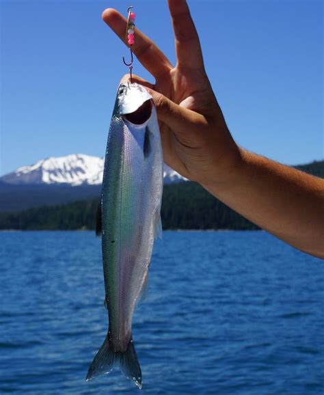
[(154, 199), (161, 176), (152, 172), (159, 152), (152, 146), (144, 156), (145, 133), (116, 120), (107, 144), (102, 193), (105, 292), (111, 344), (121, 352), (131, 340), (133, 311), (148, 275), (161, 205)]

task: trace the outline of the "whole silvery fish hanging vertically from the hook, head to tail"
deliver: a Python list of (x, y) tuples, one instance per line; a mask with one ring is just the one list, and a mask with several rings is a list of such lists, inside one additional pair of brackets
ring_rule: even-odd
[(86, 381), (119, 367), (141, 389), (131, 327), (135, 306), (147, 286), (154, 239), (162, 234), (162, 192), (163, 151), (152, 96), (137, 83), (121, 83), (96, 219), (109, 327)]

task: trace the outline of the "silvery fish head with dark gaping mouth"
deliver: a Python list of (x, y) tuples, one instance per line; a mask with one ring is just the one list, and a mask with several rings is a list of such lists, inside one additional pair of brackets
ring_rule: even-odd
[(118, 87), (115, 114), (135, 125), (145, 124), (154, 103), (145, 87), (138, 83), (121, 83)]

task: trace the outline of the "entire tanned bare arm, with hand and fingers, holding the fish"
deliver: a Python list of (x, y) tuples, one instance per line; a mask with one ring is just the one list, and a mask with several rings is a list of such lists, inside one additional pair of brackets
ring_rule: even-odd
[[(136, 30), (133, 45), (156, 80), (152, 84), (134, 77), (157, 106), (165, 163), (261, 228), (324, 258), (324, 180), (237, 146), (206, 76), (187, 3), (168, 3), (176, 66), (141, 31)], [(125, 42), (125, 18), (108, 9), (103, 19)]]

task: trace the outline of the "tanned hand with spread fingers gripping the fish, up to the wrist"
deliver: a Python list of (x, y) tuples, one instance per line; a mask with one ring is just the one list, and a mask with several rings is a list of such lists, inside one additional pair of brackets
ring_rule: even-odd
[[(152, 85), (139, 77), (152, 94), (159, 117), (164, 160), (177, 172), (202, 185), (224, 183), (238, 166), (234, 143), (204, 70), (202, 51), (185, 0), (168, 0), (176, 40), (177, 64), (172, 66), (141, 31), (135, 31), (133, 52), (153, 75)], [(116, 10), (103, 20), (125, 41), (126, 19)]]

